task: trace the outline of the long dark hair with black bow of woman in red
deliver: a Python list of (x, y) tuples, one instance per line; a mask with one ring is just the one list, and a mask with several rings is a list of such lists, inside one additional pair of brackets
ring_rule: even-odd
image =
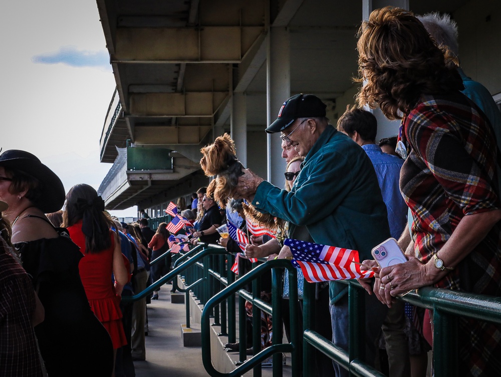
[(110, 227), (113, 222), (104, 212), (104, 200), (89, 185), (73, 186), (66, 195), (63, 224), (72, 226), (82, 220), (87, 253), (98, 253), (111, 246)]

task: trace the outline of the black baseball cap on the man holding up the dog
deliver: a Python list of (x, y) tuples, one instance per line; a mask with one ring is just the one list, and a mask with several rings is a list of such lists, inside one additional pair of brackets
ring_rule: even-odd
[(284, 131), (298, 118), (325, 117), (326, 107), (327, 105), (313, 94), (296, 94), (284, 102), (277, 120), (266, 129), (266, 132), (273, 134)]

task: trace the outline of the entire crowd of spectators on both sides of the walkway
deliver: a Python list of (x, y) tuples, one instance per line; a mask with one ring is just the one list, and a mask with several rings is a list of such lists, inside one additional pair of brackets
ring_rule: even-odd
[[(292, 257), (286, 238), (358, 250), (362, 269), (376, 271), (375, 278), (359, 280), (368, 293), (365, 336), (357, 339), (366, 346), (364, 361), (384, 369), (385, 349), (391, 377), (421, 377), (433, 311), (397, 297), (430, 285), (501, 294), (494, 132), (501, 114), (485, 88), (460, 69), (457, 29), (447, 17), (386, 7), (371, 13), (358, 38), (364, 86), (336, 127), (320, 98), (298, 94), (266, 129), (281, 134), (284, 188), (246, 169), (226, 211), (206, 187), (191, 204), (179, 198), (177, 208), (193, 225), (191, 243), (219, 242), (238, 254), (240, 274), (251, 268), (250, 258)], [(364, 108), (400, 120), (398, 135), (376, 143), (376, 118)], [(241, 253), (217, 228), (228, 220), (246, 232), (244, 200), (281, 226), (275, 238), (249, 237)], [(144, 212), (137, 224), (113, 221), (95, 189), (80, 184), (65, 194), (56, 174), (20, 150), (0, 155), (0, 211), (0, 375), (133, 376), (132, 361), (146, 358), (147, 298), (120, 298), (169, 272), (169, 257), (149, 266), (169, 249), (167, 224), (154, 232)], [(407, 261), (379, 268), (371, 250), (389, 237), (398, 239)], [(270, 292), (271, 277), (264, 277), (261, 297), (269, 300)], [(314, 330), (344, 349), (353, 341), (347, 293), (339, 282), (317, 283), (313, 320)], [(273, 318), (262, 321), (266, 347)], [(494, 323), (459, 317), (461, 375), (499, 372), (500, 331)], [(315, 365), (320, 376), (348, 375), (321, 352)]]

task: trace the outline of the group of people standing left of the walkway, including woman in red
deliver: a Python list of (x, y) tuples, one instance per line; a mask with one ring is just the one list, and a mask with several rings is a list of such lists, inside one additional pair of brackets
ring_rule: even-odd
[(151, 240), (168, 234), (112, 219), (87, 184), (65, 195), (26, 151), (0, 155), (0, 185), (0, 375), (133, 377), (146, 298), (121, 297), (146, 288)]

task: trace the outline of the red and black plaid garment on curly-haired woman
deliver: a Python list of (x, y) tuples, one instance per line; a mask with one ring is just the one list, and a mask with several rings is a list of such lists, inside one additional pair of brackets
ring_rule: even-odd
[[(484, 114), (459, 92), (424, 96), (402, 126), (408, 157), (400, 189), (412, 212), (415, 256), (427, 262), (464, 216), (501, 207), (495, 137)], [(498, 296), (500, 235), (498, 223), (436, 286)], [(458, 342), (459, 370), (499, 374), (501, 326), (459, 318)]]

